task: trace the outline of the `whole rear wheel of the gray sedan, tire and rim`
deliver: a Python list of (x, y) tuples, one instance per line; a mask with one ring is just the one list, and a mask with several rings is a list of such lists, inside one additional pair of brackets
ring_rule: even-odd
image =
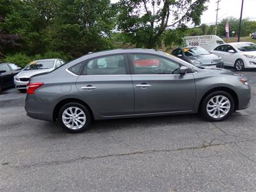
[(58, 120), (66, 131), (77, 133), (88, 129), (92, 123), (92, 115), (82, 104), (70, 102), (62, 106)]

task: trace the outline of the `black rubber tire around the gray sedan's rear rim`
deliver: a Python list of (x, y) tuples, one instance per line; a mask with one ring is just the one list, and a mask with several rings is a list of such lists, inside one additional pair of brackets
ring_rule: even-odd
[[(83, 111), (84, 115), (85, 115), (85, 120), (82, 121), (83, 119), (81, 118), (81, 116), (77, 115), (77, 118), (78, 120), (81, 120), (81, 122), (84, 122), (84, 125), (83, 127), (77, 127), (76, 123), (79, 125), (80, 123), (78, 122), (78, 120), (76, 120), (76, 118), (74, 119), (74, 116), (72, 118), (70, 118), (71, 122), (70, 124), (68, 125), (65, 125), (65, 122), (63, 122), (63, 118), (62, 118), (62, 115), (63, 115), (63, 112), (66, 110), (66, 109), (72, 109), (72, 108), (78, 108), (79, 110)], [(77, 109), (77, 111), (78, 111)], [(68, 110), (70, 111), (70, 110)], [(75, 113), (74, 111), (72, 111), (73, 113)], [(78, 113), (78, 112), (77, 112)], [(80, 112), (79, 112), (80, 113)], [(83, 114), (82, 114), (83, 115)], [(67, 118), (68, 116), (70, 115), (66, 115)], [(81, 119), (79, 119), (81, 118)], [(58, 114), (58, 120), (61, 124), (61, 126), (63, 127), (63, 129), (65, 129), (66, 131), (68, 132), (72, 132), (72, 133), (78, 133), (78, 132), (83, 132), (83, 131), (86, 131), (86, 129), (88, 129), (88, 127), (90, 127), (90, 125), (92, 124), (92, 114), (90, 113), (90, 111), (84, 107), (82, 104), (79, 104), (77, 102), (70, 102), (70, 103), (67, 103), (65, 105), (63, 105), (60, 110), (59, 110), (59, 114)], [(67, 123), (67, 122), (66, 122)], [(75, 127), (70, 128), (68, 126), (72, 126), (72, 123), (75, 125)], [(80, 124), (81, 125), (81, 124)]]

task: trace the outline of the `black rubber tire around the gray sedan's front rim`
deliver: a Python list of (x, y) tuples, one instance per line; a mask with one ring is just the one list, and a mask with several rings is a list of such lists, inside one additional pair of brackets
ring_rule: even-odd
[[(215, 112), (215, 115), (216, 115), (216, 113), (217, 113), (217, 116), (216, 117), (213, 117), (213, 116), (211, 116), (211, 115), (209, 115), (209, 113), (207, 112), (207, 104), (208, 103), (212, 103), (212, 102), (210, 102), (210, 100), (211, 99), (213, 99), (213, 100), (215, 100), (216, 101), (216, 96), (221, 96), (220, 97), (220, 99), (222, 99), (222, 98), (227, 98), (227, 100), (229, 100), (229, 103), (230, 104), (224, 104), (224, 106), (221, 106), (221, 105), (218, 105), (218, 106), (216, 106), (216, 110), (214, 111), (211, 111), (212, 109), (214, 109), (215, 107), (212, 107), (212, 108), (208, 108), (213, 114), (214, 114), (214, 112)], [(220, 99), (219, 99), (219, 101), (220, 101)], [(226, 100), (226, 99), (225, 99)], [(224, 102), (225, 102), (225, 100), (223, 100)], [(226, 101), (227, 101), (226, 100)], [(220, 107), (221, 106), (221, 107)], [(219, 108), (219, 111), (220, 110), (222, 110), (222, 108), (223, 107), (225, 107), (225, 108), (228, 108), (228, 106), (230, 107), (229, 108), (229, 111), (226, 111), (227, 113), (224, 115), (224, 116), (220, 116), (220, 117), (218, 117), (218, 108)], [(221, 109), (220, 109), (221, 108)], [(209, 121), (211, 121), (211, 122), (218, 122), (218, 121), (221, 121), (221, 120), (225, 120), (225, 118), (227, 118), (228, 116), (230, 116), (233, 112), (234, 112), (234, 108), (235, 108), (235, 102), (234, 102), (234, 99), (233, 99), (233, 97), (229, 94), (229, 93), (227, 93), (227, 92), (224, 92), (224, 91), (217, 91), (217, 92), (212, 92), (212, 93), (210, 93), (209, 95), (207, 95), (206, 97), (205, 97), (205, 99), (203, 100), (203, 102), (202, 102), (202, 106), (201, 106), (201, 113), (202, 113), (202, 116), (204, 116), (204, 118), (206, 119), (206, 120), (209, 120)], [(224, 110), (226, 110), (226, 109), (224, 109)], [(210, 112), (210, 113), (211, 113)], [(224, 114), (222, 111), (220, 111), (220, 113), (222, 113), (222, 115)]]

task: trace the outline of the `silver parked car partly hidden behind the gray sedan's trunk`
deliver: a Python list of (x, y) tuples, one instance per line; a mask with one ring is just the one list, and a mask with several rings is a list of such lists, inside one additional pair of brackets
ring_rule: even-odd
[(51, 72), (55, 68), (65, 64), (61, 59), (35, 60), (30, 62), (22, 71), (14, 76), (15, 88), (20, 92), (26, 92), (29, 78), (36, 74)]

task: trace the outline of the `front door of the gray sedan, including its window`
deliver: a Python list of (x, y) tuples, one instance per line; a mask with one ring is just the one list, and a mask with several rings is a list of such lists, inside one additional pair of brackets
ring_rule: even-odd
[(129, 63), (132, 68), (135, 113), (193, 109), (195, 104), (193, 73), (180, 76), (179, 63), (153, 54), (129, 54)]

